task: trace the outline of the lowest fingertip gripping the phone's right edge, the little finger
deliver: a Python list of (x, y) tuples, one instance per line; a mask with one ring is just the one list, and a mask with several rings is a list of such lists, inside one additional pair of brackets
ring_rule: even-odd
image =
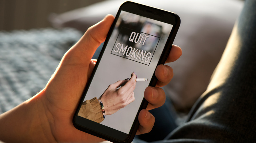
[(136, 135), (145, 134), (152, 130), (155, 123), (155, 117), (145, 109), (139, 112), (139, 128)]

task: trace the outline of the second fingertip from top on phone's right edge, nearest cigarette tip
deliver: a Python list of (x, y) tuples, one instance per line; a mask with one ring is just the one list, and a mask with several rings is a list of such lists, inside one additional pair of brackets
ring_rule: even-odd
[(155, 74), (158, 79), (156, 87), (163, 87), (173, 78), (173, 69), (167, 65), (159, 65)]

